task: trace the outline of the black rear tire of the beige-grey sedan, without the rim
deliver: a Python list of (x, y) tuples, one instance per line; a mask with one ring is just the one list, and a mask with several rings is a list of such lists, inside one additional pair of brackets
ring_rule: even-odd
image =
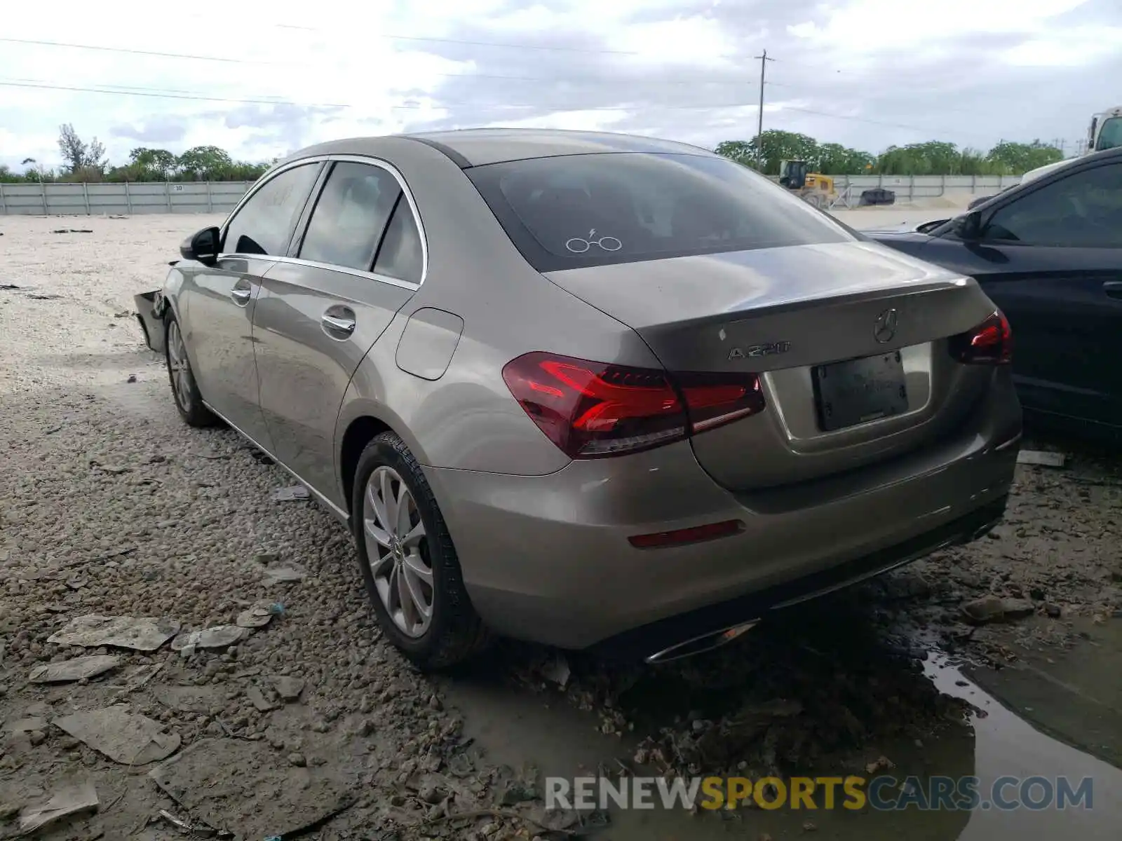
[[(454, 606), (451, 603), (451, 588), (448, 586), (449, 567), (457, 569), (458, 561), (451, 544), (444, 545), (447, 532), (442, 518), (431, 502), (431, 489), (420, 473), (417, 468), (406, 460), (395, 442), (388, 436), (380, 435), (367, 445), (359, 456), (358, 465), (355, 470), (355, 486), (351, 492), (351, 533), (355, 537), (355, 551), (358, 556), (359, 570), (362, 573), (362, 582), (366, 584), (370, 604), (378, 619), (378, 626), (383, 634), (408, 655), (426, 659), (436, 654), (438, 648), (449, 631), (451, 612)], [(404, 444), (399, 445), (404, 449)], [(425, 545), (429, 553), (429, 562), (432, 565), (432, 621), (429, 628), (420, 637), (406, 636), (394, 622), (389, 611), (381, 602), (381, 597), (374, 583), (374, 571), (370, 566), (370, 557), (366, 549), (366, 534), (364, 530), (364, 496), (366, 483), (370, 474), (379, 466), (392, 468), (405, 482), (413, 500), (416, 503), (417, 512), (425, 528)], [(421, 484), (423, 483), (423, 484)], [(451, 556), (449, 556), (451, 555)]]

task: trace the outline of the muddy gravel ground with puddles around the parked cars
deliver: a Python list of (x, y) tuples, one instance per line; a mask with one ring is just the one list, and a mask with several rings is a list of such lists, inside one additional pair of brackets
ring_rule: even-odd
[[(846, 221), (900, 221), (880, 213)], [(504, 644), (425, 677), (378, 638), (344, 530), (312, 502), (272, 499), (291, 480), (233, 433), (183, 426), (144, 348), (131, 296), (210, 221), (0, 216), (0, 838), (85, 784), (96, 813), (43, 838), (182, 838), (162, 810), (247, 841), (318, 822), (307, 837), (381, 841), (1116, 838), (1122, 479), (1110, 459), (1036, 442), (1067, 464), (1019, 468), (991, 537), (791, 609), (716, 655), (629, 669), (573, 656), (562, 688), (555, 653)], [(964, 621), (987, 595), (1013, 616)], [(258, 603), (242, 619), (260, 627), (192, 651), (188, 631)], [(90, 614), (155, 618), (157, 644), (48, 640)], [(116, 659), (33, 680), (90, 656)], [(882, 757), (901, 777), (1093, 775), (1098, 800), (1089, 813), (810, 819), (541, 803), (543, 775), (580, 768), (842, 775), (889, 767)]]

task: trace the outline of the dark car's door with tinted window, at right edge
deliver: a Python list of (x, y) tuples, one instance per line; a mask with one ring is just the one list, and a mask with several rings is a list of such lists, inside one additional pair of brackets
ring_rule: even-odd
[(981, 233), (971, 274), (1013, 327), (1026, 407), (1122, 424), (1122, 161), (1065, 169)]

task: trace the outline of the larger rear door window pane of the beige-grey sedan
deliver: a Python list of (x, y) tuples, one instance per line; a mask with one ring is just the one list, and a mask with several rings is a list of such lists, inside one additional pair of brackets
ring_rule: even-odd
[(315, 202), (300, 258), (369, 271), (401, 194), (397, 178), (379, 166), (335, 164)]

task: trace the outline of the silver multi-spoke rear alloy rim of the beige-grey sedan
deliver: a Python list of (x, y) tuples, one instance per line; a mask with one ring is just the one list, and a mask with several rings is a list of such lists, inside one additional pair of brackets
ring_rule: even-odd
[(432, 565), (413, 493), (393, 468), (375, 468), (362, 495), (362, 536), (374, 584), (402, 632), (420, 637), (433, 611)]

